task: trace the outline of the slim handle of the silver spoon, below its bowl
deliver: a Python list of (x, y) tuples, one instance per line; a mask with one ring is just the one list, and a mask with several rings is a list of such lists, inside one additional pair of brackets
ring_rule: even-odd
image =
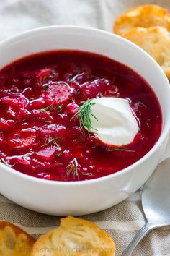
[(135, 249), (135, 247), (139, 244), (139, 242), (143, 239), (144, 236), (146, 236), (148, 231), (150, 231), (151, 229), (153, 229), (153, 227), (150, 226), (149, 223), (146, 223), (146, 225), (143, 226), (143, 228), (140, 229), (140, 231), (138, 231), (138, 234), (135, 235), (132, 242), (130, 242), (129, 246), (125, 249), (125, 251), (122, 252), (121, 256), (130, 256), (133, 250)]

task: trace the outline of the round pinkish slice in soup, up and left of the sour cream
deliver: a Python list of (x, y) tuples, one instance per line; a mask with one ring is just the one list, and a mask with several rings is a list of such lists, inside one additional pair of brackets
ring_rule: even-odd
[(45, 103), (58, 106), (61, 103), (68, 101), (71, 97), (71, 88), (66, 82), (51, 82), (49, 90), (45, 93)]

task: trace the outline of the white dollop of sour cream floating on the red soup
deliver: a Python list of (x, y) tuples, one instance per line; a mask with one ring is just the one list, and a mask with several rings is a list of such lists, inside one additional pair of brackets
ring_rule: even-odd
[(91, 129), (96, 137), (107, 145), (122, 146), (133, 142), (138, 133), (138, 121), (124, 98), (102, 97), (92, 100)]

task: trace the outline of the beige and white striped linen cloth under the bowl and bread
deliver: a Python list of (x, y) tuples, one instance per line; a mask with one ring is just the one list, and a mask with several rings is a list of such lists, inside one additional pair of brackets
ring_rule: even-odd
[[(169, 0), (0, 0), (0, 40), (45, 25), (84, 25), (112, 31), (115, 18), (138, 4), (160, 4)], [(164, 158), (170, 156), (170, 141)], [(117, 256), (145, 223), (140, 192), (112, 208), (83, 216), (94, 221), (115, 239)], [(0, 219), (18, 223), (35, 237), (59, 225), (60, 218), (24, 209), (0, 195)], [(170, 256), (170, 227), (151, 231), (135, 249), (138, 256)]]

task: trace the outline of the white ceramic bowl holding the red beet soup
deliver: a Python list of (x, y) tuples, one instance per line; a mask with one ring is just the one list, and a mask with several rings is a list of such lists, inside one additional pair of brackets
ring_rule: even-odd
[(53, 49), (91, 51), (120, 61), (145, 78), (161, 103), (163, 129), (158, 142), (143, 158), (116, 174), (82, 182), (54, 182), (0, 164), (0, 192), (17, 204), (57, 216), (94, 213), (129, 197), (160, 161), (170, 129), (169, 81), (156, 61), (135, 44), (102, 30), (73, 26), (41, 27), (4, 40), (0, 43), (0, 68), (23, 56)]

